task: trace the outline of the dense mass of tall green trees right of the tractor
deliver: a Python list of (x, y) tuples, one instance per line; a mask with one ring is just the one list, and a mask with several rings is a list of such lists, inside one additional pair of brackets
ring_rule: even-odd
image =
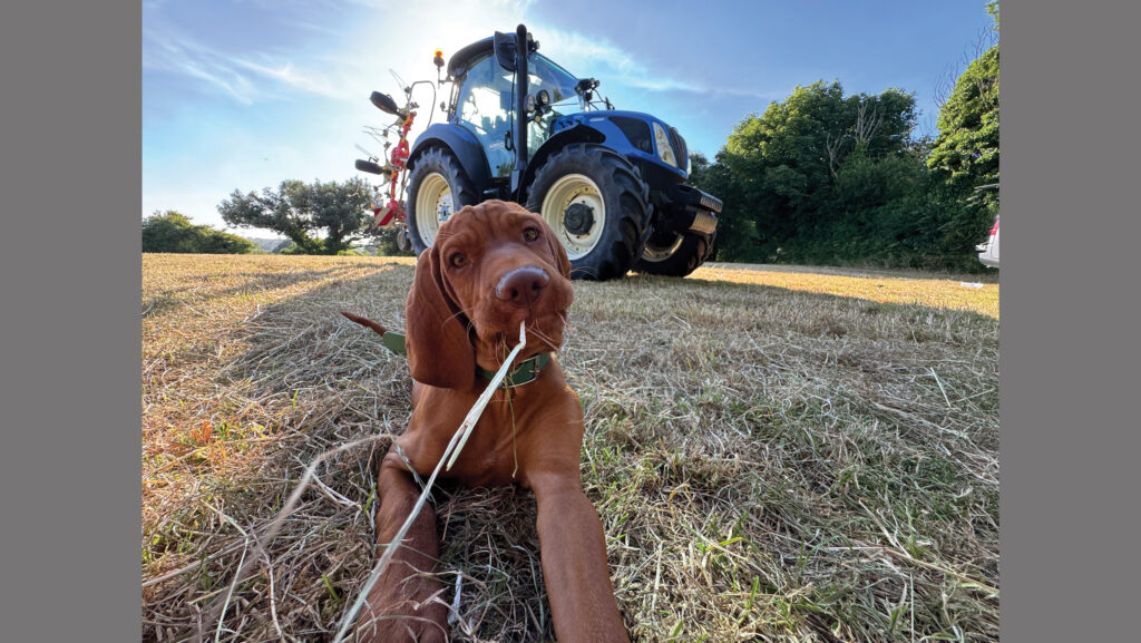
[(725, 203), (715, 258), (982, 270), (974, 244), (997, 193), (973, 187), (997, 180), (996, 74), (996, 50), (972, 64), (934, 143), (913, 138), (915, 99), (899, 89), (820, 81), (750, 114), (714, 163), (691, 158), (694, 184)]

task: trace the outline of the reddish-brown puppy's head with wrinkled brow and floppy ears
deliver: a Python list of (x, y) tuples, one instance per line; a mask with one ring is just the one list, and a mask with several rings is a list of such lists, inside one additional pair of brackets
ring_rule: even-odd
[(467, 206), (416, 260), (406, 319), (416, 381), (469, 389), (499, 368), (526, 322), (519, 360), (557, 351), (574, 299), (570, 262), (543, 219), (517, 203)]

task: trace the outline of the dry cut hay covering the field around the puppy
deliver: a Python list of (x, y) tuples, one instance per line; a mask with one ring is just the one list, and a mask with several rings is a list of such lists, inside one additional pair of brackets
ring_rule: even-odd
[[(337, 312), (398, 322), (410, 264), (144, 256), (145, 641), (331, 637), (410, 384)], [(561, 360), (632, 637), (997, 641), (997, 286), (950, 281), (950, 308), (712, 276), (575, 284)], [(553, 640), (533, 496), (434, 493), (454, 640)]]

